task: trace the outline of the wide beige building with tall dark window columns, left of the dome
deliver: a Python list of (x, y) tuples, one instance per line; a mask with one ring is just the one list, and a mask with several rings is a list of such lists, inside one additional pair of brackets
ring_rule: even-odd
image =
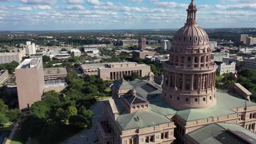
[(104, 67), (98, 67), (98, 76), (103, 80), (118, 80), (124, 75), (137, 73), (140, 77), (147, 76), (150, 73), (150, 66), (137, 63), (110, 63)]

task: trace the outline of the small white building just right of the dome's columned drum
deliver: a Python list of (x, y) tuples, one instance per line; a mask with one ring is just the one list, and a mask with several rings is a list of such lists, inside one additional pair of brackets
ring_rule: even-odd
[(236, 63), (235, 62), (216, 62), (218, 65), (217, 71), (219, 72), (219, 75), (223, 75), (225, 73), (235, 73), (236, 70)]

